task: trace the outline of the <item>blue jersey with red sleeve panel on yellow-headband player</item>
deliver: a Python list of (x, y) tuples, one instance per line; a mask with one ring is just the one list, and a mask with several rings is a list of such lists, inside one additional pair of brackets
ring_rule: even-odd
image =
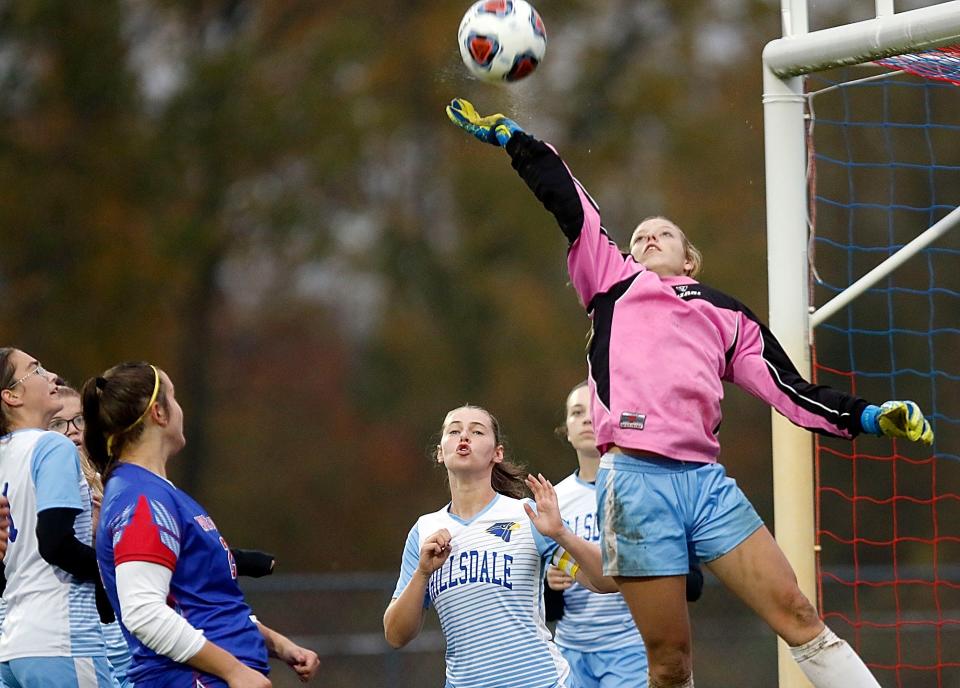
[(237, 585), (230, 547), (213, 519), (189, 495), (145, 468), (120, 464), (107, 482), (96, 541), (107, 596), (132, 650), (128, 678), (137, 688), (226, 684), (155, 653), (123, 626), (116, 567), (129, 561), (170, 569), (167, 604), (202, 630), (207, 640), (268, 673), (263, 635)]

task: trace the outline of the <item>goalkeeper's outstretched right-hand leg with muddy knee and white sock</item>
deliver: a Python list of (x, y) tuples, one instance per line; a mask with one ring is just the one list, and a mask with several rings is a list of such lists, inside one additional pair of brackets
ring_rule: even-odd
[(816, 688), (880, 688), (853, 648), (820, 620), (766, 528), (706, 565), (786, 641)]

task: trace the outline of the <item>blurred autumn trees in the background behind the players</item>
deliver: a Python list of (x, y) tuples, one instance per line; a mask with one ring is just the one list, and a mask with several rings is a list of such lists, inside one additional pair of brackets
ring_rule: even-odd
[[(766, 313), (778, 3), (538, 4), (546, 59), (509, 88), (460, 65), (468, 4), (0, 2), (0, 339), (76, 385), (166, 368), (174, 480), (284, 571), (395, 569), (447, 499), (426, 451), (457, 404), (519, 461), (574, 465), (551, 432), (585, 376), (565, 242), (452, 97), (553, 142), (616, 239), (674, 217), (703, 280)], [(723, 458), (772, 519), (768, 413), (732, 391)]]

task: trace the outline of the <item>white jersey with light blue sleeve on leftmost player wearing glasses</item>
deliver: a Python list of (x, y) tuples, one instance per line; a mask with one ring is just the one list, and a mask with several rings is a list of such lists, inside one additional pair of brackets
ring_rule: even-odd
[(37, 546), (37, 513), (78, 509), (77, 539), (93, 542), (90, 487), (73, 443), (56, 432), (17, 430), (0, 437), (0, 487), (10, 501), (4, 556), (7, 614), (0, 661), (21, 657), (104, 657), (93, 582), (48, 564)]

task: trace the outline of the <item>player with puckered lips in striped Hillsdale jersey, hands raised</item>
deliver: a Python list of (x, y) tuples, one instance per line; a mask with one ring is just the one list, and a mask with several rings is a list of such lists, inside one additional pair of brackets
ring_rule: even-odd
[[(412, 641), (432, 604), (447, 641), (449, 688), (575, 688), (543, 621), (543, 571), (552, 561), (579, 583), (613, 592), (599, 547), (564, 525), (548, 480), (524, 480), (506, 459), (488, 411), (450, 411), (434, 460), (446, 469), (451, 500), (407, 536), (383, 616), (387, 642)], [(522, 499), (524, 484), (536, 510)]]

